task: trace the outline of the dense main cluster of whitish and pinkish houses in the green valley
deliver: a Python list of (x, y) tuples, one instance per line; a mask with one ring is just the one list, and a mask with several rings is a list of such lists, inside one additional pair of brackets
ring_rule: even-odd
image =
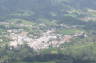
[(23, 45), (24, 43), (28, 44), (34, 50), (40, 50), (51, 47), (59, 47), (61, 44), (65, 42), (71, 42), (74, 37), (87, 37), (84, 32), (76, 33), (74, 35), (64, 35), (61, 36), (59, 34), (55, 34), (54, 30), (48, 30), (45, 33), (42, 33), (42, 36), (33, 39), (28, 37), (28, 32), (20, 29), (17, 33), (16, 30), (7, 30), (9, 32), (9, 37), (11, 39), (9, 45), (12, 47), (18, 47), (18, 45)]

